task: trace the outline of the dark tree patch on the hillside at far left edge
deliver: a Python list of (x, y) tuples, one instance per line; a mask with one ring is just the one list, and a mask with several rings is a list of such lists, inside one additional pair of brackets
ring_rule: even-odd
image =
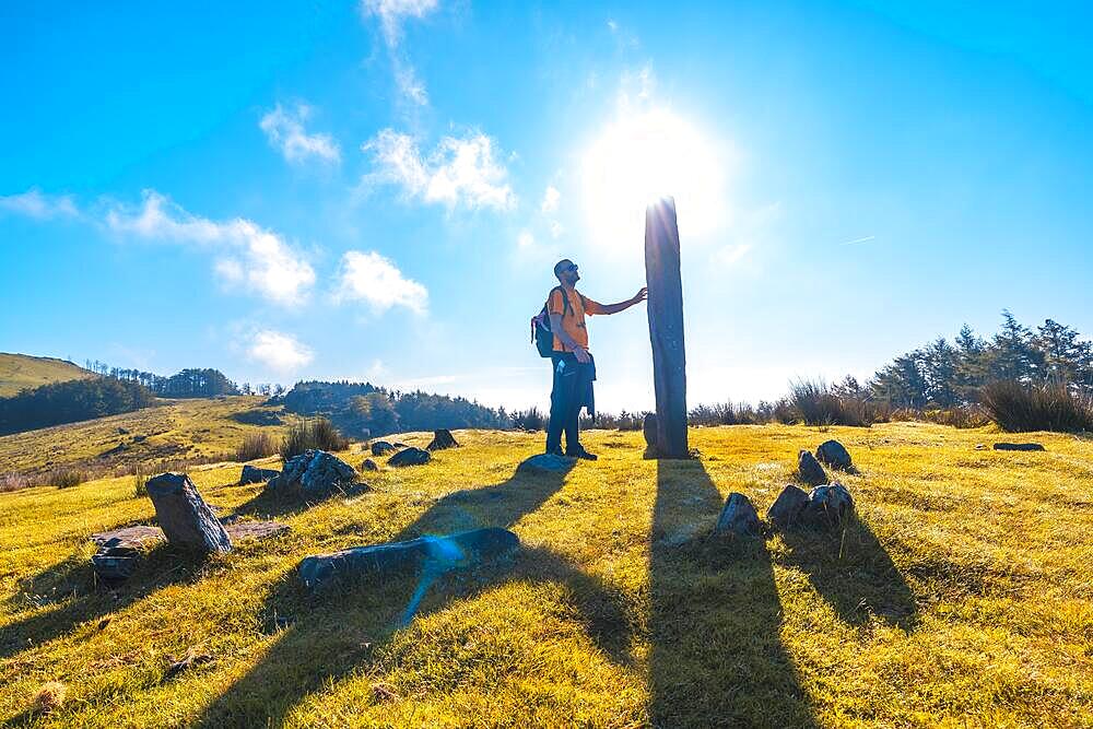
[(113, 377), (43, 385), (0, 398), (0, 435), (130, 412), (146, 408), (153, 399), (140, 383)]

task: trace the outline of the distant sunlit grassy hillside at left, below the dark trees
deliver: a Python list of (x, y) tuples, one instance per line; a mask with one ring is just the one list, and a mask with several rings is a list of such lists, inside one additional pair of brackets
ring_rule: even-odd
[[(59, 467), (154, 466), (157, 461), (231, 457), (259, 430), (235, 415), (269, 410), (265, 398), (157, 400), (152, 408), (0, 437), (0, 473), (35, 474)], [(265, 426), (280, 435), (280, 426)]]

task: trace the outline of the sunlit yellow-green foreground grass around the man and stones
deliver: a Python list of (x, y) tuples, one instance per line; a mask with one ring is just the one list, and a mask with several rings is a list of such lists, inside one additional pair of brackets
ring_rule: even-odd
[[(540, 437), (456, 437), (315, 504), (231, 485), (238, 466), (195, 471), (222, 514), (273, 512), (292, 532), (204, 562), (156, 549), (116, 593), (92, 584), (87, 536), (152, 518), (131, 479), (0, 494), (0, 720), (1093, 726), (1089, 440), (999, 452), (985, 431), (921, 423), (734, 426), (693, 430), (697, 461), (657, 462), (640, 434), (593, 431), (601, 459), (553, 479), (515, 475)], [(765, 510), (827, 437), (860, 470), (843, 477), (845, 534), (712, 534), (729, 492)], [(442, 578), (407, 627), (413, 576), (317, 596), (295, 576), (308, 554), (478, 526), (521, 551)], [(211, 660), (165, 679), (188, 650)], [(35, 715), (50, 681), (68, 698)]]

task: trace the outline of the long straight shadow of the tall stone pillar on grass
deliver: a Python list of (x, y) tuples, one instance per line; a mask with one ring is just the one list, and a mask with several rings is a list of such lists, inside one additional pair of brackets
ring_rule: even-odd
[(658, 461), (649, 575), (651, 722), (814, 727), (779, 636), (781, 603), (766, 546), (761, 539), (712, 533), (720, 506), (700, 461)]

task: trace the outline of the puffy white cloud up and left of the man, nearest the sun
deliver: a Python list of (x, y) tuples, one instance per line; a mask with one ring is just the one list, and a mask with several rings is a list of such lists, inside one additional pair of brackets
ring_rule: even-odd
[(409, 197), (449, 210), (457, 205), (507, 210), (516, 204), (508, 171), (494, 158), (494, 141), (485, 134), (445, 137), (423, 156), (412, 137), (384, 129), (361, 149), (372, 154), (376, 167), (365, 183), (399, 185)]

